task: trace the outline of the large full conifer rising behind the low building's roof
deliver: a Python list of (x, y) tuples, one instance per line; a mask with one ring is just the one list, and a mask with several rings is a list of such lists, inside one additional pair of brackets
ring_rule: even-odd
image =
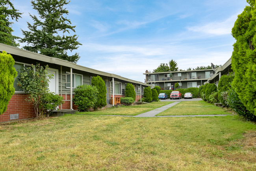
[[(70, 2), (70, 1), (69, 1)], [(69, 4), (67, 0), (32, 0), (33, 9), (37, 10), (39, 18), (35, 15), (33, 25), (28, 23), (30, 31), (22, 30), (24, 38), (20, 42), (28, 43), (23, 48), (46, 56), (60, 58), (76, 63), (80, 58), (78, 53), (67, 55), (67, 51), (73, 51), (80, 44), (77, 35), (70, 35), (70, 31), (75, 32), (76, 26), (71, 26), (69, 19), (63, 15), (68, 15), (69, 11), (63, 8)], [(59, 35), (63, 32), (63, 35)]]

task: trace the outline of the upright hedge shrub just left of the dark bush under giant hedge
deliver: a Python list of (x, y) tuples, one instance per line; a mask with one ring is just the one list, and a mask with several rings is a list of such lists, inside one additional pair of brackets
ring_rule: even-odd
[(231, 87), (231, 83), (234, 79), (234, 75), (223, 75), (221, 76), (221, 79), (219, 80), (219, 84), (218, 84), (218, 98), (219, 101), (221, 102), (221, 104), (225, 105), (226, 102), (223, 99), (223, 96), (221, 95), (221, 93), (223, 91), (228, 91), (228, 87)]

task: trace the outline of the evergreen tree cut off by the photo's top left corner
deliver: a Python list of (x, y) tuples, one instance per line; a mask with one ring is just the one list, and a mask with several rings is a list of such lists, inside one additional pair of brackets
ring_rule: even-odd
[(22, 14), (18, 11), (19, 10), (14, 8), (10, 0), (0, 0), (0, 43), (15, 47), (19, 46), (19, 44), (15, 42), (15, 39), (19, 37), (11, 34), (11, 32), (13, 32), (11, 28), (13, 22), (9, 21), (11, 19), (18, 21)]

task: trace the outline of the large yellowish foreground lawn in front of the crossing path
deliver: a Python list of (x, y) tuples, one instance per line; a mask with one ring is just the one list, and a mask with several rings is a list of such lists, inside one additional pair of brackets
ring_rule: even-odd
[(256, 169), (256, 125), (237, 116), (65, 115), (0, 124), (0, 142), (0, 170)]

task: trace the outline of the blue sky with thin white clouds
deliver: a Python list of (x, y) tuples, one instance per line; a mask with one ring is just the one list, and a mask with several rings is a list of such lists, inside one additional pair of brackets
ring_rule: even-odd
[[(24, 37), (30, 0), (14, 0), (22, 18), (13, 35)], [(179, 69), (223, 65), (232, 55), (234, 22), (246, 0), (70, 0), (71, 25), (82, 44), (77, 64), (144, 82), (146, 70), (175, 60)], [(20, 44), (20, 47), (25, 44)]]

